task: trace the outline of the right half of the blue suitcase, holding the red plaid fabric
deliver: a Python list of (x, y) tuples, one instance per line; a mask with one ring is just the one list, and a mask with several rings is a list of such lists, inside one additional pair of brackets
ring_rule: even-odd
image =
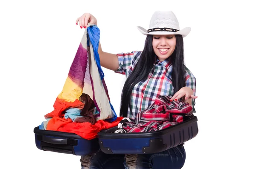
[(106, 154), (151, 154), (163, 152), (191, 140), (198, 134), (197, 117), (157, 132), (114, 133), (117, 126), (98, 133)]

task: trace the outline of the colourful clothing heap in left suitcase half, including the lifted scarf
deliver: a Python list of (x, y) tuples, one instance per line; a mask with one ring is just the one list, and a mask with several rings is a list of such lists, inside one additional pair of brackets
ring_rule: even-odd
[(98, 54), (99, 34), (96, 25), (89, 24), (85, 29), (54, 110), (45, 115), (47, 121), (39, 129), (73, 132), (90, 140), (122, 120), (116, 116), (104, 81)]

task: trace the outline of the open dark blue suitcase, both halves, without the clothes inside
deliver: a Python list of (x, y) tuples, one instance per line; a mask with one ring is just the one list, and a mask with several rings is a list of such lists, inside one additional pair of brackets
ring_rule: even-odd
[(73, 155), (89, 155), (102, 150), (106, 154), (150, 154), (165, 151), (191, 140), (198, 134), (198, 119), (185, 120), (175, 126), (143, 133), (114, 133), (117, 126), (86, 140), (79, 135), (34, 128), (35, 143), (44, 151)]

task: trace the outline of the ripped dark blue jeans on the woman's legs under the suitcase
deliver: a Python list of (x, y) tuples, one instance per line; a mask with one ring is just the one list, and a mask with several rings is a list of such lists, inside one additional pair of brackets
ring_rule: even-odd
[(181, 169), (185, 160), (183, 145), (154, 154), (108, 155), (99, 151), (91, 158), (90, 167), (82, 169)]

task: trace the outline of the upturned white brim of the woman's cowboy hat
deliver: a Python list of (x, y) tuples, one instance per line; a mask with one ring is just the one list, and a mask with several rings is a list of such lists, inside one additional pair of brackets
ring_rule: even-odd
[(168, 31), (157, 31), (157, 32), (147, 32), (146, 29), (144, 29), (143, 27), (141, 26), (137, 26), (137, 29), (139, 29), (139, 31), (142, 33), (142, 34), (145, 34), (145, 35), (148, 35), (148, 34), (157, 34), (157, 35), (166, 35), (166, 34), (180, 34), (182, 35), (182, 37), (186, 37), (186, 35), (189, 34), (189, 32), (191, 31), (191, 28), (190, 27), (186, 27), (184, 29), (181, 29), (180, 31), (178, 32), (168, 32)]

